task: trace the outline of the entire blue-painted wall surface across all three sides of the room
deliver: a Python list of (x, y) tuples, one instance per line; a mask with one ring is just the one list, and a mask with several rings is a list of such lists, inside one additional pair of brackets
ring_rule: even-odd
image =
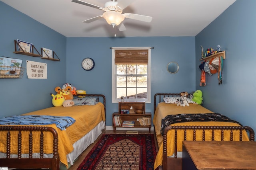
[[(48, 64), (48, 79), (0, 79), (0, 117), (17, 115), (52, 106), (50, 93), (66, 82), (90, 94), (106, 96), (106, 125), (111, 126), (112, 112), (118, 104), (112, 104), (112, 51), (110, 47), (154, 47), (151, 55), (151, 104), (146, 111), (153, 113), (155, 93), (202, 90), (204, 106), (228, 115), (256, 129), (254, 99), (256, 93), (254, 70), (256, 12), (254, 0), (237, 0), (223, 14), (202, 30), (196, 37), (64, 37), (32, 18), (0, 2), (0, 56), (12, 57)], [(3, 24), (4, 23), (4, 24)], [(14, 39), (32, 42), (36, 49), (52, 49), (60, 61), (40, 57), (17, 55)], [(226, 51), (223, 84), (218, 85), (217, 75), (206, 76), (206, 86), (200, 87), (201, 48)], [(82, 59), (91, 57), (96, 65), (91, 71), (81, 67)], [(170, 74), (166, 66), (176, 61), (180, 70)], [(9, 107), (8, 104), (12, 105)]]

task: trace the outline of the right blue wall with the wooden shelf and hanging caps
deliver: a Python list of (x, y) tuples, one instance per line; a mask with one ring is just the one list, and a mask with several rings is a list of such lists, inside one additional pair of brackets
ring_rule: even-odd
[[(196, 36), (196, 89), (203, 92), (204, 106), (223, 113), (256, 130), (256, 1), (237, 0), (216, 20)], [(223, 65), (223, 84), (218, 76), (206, 75), (206, 86), (200, 87), (202, 45), (205, 49), (221, 46), (226, 51)]]

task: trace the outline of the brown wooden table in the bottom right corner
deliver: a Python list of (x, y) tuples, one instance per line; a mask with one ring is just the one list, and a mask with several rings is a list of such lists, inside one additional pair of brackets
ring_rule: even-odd
[(182, 170), (255, 170), (254, 141), (183, 141)]

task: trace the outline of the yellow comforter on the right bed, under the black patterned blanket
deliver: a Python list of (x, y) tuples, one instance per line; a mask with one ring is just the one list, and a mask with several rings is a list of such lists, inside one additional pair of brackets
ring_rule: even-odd
[[(213, 113), (212, 111), (202, 107), (201, 105), (197, 104), (190, 104), (190, 106), (177, 106), (176, 104), (165, 104), (164, 102), (161, 102), (156, 107), (156, 111), (154, 114), (153, 124), (156, 132), (156, 139), (158, 142), (158, 153), (156, 156), (156, 160), (154, 162), (154, 169), (156, 169), (158, 166), (162, 165), (162, 155), (163, 155), (163, 137), (160, 133), (161, 130), (161, 122), (164, 117), (170, 114), (181, 114), (181, 113)], [(219, 126), (240, 126), (237, 123), (232, 122), (184, 122), (184, 123), (174, 123), (172, 126), (175, 125), (219, 125)], [(193, 133), (190, 133), (191, 131), (187, 131), (187, 140), (193, 140)], [(182, 151), (182, 141), (184, 140), (184, 133), (181, 133), (181, 131), (178, 131), (181, 135), (178, 136), (177, 139), (177, 151)], [(205, 140), (211, 140), (211, 131), (206, 131), (205, 135), (210, 136), (209, 138), (206, 138)], [(228, 133), (225, 132), (225, 133)], [(225, 135), (224, 133), (224, 141), (229, 141), (230, 138), (228, 135)], [(196, 133), (196, 140), (202, 140), (202, 133)], [(225, 136), (227, 139), (225, 139)], [(220, 141), (220, 134), (215, 133), (215, 140)], [(233, 140), (239, 141), (239, 133), (233, 134)], [(248, 135), (246, 132), (243, 133), (243, 140), (249, 141)], [(167, 156), (172, 156), (174, 154), (174, 130), (170, 130), (167, 133)]]

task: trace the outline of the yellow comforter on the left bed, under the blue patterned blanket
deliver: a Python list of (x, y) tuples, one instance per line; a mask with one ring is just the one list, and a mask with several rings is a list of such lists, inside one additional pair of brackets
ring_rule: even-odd
[[(74, 124), (67, 127), (66, 130), (60, 130), (55, 124), (52, 125), (34, 125), (34, 126), (47, 126), (53, 127), (58, 133), (58, 150), (60, 156), (60, 162), (68, 167), (66, 155), (73, 150), (73, 144), (78, 141), (81, 137), (91, 131), (100, 121), (105, 121), (104, 105), (98, 103), (96, 105), (84, 105), (84, 106), (72, 106), (72, 107), (49, 107), (38, 111), (26, 113), (24, 115), (52, 115), (52, 116), (70, 116), (76, 120)], [(26, 126), (26, 125), (24, 125)], [(4, 132), (2, 132), (4, 133)], [(28, 137), (22, 136), (23, 139)], [(40, 134), (33, 136), (33, 152), (39, 152), (40, 146), (38, 138)], [(36, 139), (37, 138), (37, 139)], [(27, 138), (28, 139), (28, 138)], [(11, 154), (17, 154), (17, 135), (12, 135), (11, 139)], [(34, 141), (36, 143), (34, 143)], [(24, 141), (23, 141), (24, 142)], [(52, 153), (53, 139), (50, 132), (44, 135), (44, 153)], [(0, 152), (6, 152), (6, 133), (0, 135)], [(22, 154), (28, 153), (28, 143), (22, 143)]]

